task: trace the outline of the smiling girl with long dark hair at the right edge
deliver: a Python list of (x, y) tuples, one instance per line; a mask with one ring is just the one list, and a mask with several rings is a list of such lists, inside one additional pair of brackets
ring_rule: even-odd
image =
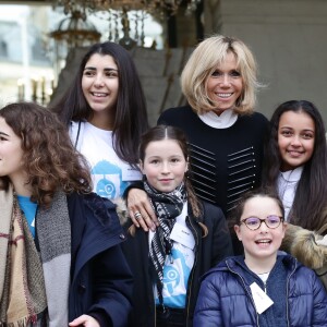
[(264, 183), (277, 189), (286, 220), (308, 230), (327, 223), (327, 144), (310, 101), (281, 104), (270, 120)]

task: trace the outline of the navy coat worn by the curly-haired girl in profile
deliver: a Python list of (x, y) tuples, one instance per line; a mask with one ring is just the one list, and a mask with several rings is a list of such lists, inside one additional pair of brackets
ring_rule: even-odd
[(82, 314), (101, 327), (126, 326), (133, 279), (121, 251), (116, 206), (96, 194), (68, 196), (72, 230), (70, 322)]

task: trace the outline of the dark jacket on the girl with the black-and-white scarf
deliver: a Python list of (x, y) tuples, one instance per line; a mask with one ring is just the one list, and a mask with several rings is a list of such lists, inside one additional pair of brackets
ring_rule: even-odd
[[(185, 326), (192, 326), (193, 313), (199, 290), (199, 277), (214, 267), (225, 257), (232, 255), (232, 244), (225, 216), (220, 208), (204, 203), (204, 216), (202, 222), (208, 229), (208, 235), (202, 238), (203, 231), (198, 220), (187, 209), (191, 228), (196, 234), (195, 261), (192, 268), (186, 294), (186, 307), (184, 310)], [(129, 319), (131, 327), (156, 326), (156, 304), (154, 298), (154, 278), (152, 278), (148, 258), (148, 233), (137, 229), (135, 237), (129, 235), (129, 240), (122, 244), (130, 267), (135, 276), (133, 292), (133, 311)]]

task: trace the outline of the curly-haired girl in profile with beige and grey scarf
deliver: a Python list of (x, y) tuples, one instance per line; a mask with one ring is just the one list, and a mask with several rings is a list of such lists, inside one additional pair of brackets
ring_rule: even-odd
[(0, 110), (0, 326), (125, 326), (124, 234), (86, 167), (55, 113)]

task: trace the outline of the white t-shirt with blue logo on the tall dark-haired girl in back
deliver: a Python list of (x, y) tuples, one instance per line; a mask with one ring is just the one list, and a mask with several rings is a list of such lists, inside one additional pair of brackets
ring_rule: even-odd
[(70, 135), (76, 149), (84, 155), (90, 166), (94, 192), (101, 197), (114, 199), (122, 196), (132, 181), (142, 180), (142, 173), (121, 160), (112, 147), (112, 132), (81, 122), (72, 122)]

